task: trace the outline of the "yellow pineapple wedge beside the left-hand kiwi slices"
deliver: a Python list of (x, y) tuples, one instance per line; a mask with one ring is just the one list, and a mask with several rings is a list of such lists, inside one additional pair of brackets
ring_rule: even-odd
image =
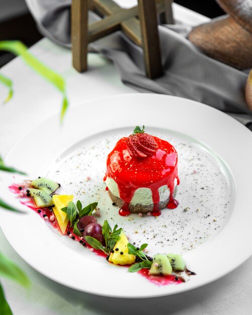
[(56, 217), (58, 226), (62, 234), (65, 234), (65, 230), (69, 221), (66, 217), (66, 213), (61, 211), (61, 208), (67, 207), (68, 203), (72, 200), (73, 200), (72, 195), (53, 195), (52, 196), (52, 202), (55, 205), (55, 207), (53, 207), (52, 210)]

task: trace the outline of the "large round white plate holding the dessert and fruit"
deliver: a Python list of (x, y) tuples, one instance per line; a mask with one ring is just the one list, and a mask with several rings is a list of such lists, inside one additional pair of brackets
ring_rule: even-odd
[[(169, 139), (179, 154), (180, 204), (177, 209), (163, 210), (157, 219), (119, 216), (103, 183), (105, 157), (116, 139), (142, 124), (146, 132)], [(156, 286), (58, 235), (8, 190), (13, 182), (21, 181), (10, 174), (1, 174), (1, 196), (26, 214), (2, 210), (1, 227), (33, 268), (77, 290), (140, 298), (199, 287), (229, 273), (251, 255), (251, 140), (244, 126), (206, 105), (134, 94), (70, 109), (63, 126), (53, 116), (27, 134), (7, 157), (8, 165), (29, 172), (29, 178), (60, 180), (59, 193), (73, 193), (75, 200), (84, 203), (99, 199), (100, 222), (107, 218), (111, 225), (122, 224), (130, 241), (147, 242), (151, 254), (182, 253), (188, 268), (197, 273), (186, 283)], [(90, 181), (86, 181), (88, 176)]]

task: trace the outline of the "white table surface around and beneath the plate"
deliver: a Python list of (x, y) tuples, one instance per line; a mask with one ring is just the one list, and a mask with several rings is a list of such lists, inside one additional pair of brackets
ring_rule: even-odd
[[(127, 7), (135, 4), (135, 0), (117, 2), (126, 4)], [(178, 5), (174, 5), (174, 11), (176, 20), (190, 25), (208, 20)], [(114, 65), (100, 54), (90, 53), (89, 71), (79, 74), (71, 67), (70, 51), (47, 39), (42, 39), (30, 50), (65, 77), (70, 108), (97, 97), (135, 93), (121, 83)], [(6, 157), (23, 135), (52, 114), (59, 113), (61, 95), (20, 58), (4, 66), (1, 72), (12, 78), (15, 91), (14, 98), (8, 104), (0, 105), (0, 153)], [(4, 99), (6, 94), (7, 90), (0, 86), (1, 99)], [(47, 279), (17, 255), (1, 230), (0, 249), (15, 261), (32, 281), (32, 288), (27, 290), (12, 281), (1, 279), (15, 315), (252, 313), (251, 258), (231, 274), (204, 287), (174, 296), (132, 300), (82, 293)], [(119, 281), (114, 281), (120, 289)]]

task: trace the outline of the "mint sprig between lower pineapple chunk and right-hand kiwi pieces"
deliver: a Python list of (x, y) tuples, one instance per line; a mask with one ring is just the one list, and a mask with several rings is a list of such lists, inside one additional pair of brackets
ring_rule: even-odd
[(128, 243), (129, 254), (132, 254), (140, 260), (140, 262), (135, 263), (134, 265), (129, 267), (129, 272), (137, 272), (143, 268), (150, 269), (152, 265), (152, 261), (150, 257), (147, 257), (143, 250), (148, 246), (148, 244), (142, 244), (139, 249), (137, 249), (134, 245)]

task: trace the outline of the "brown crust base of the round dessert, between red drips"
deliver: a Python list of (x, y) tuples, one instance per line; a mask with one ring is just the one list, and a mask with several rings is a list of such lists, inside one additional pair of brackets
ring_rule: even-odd
[[(176, 193), (177, 193), (177, 186), (175, 187), (174, 189), (174, 194), (173, 196), (175, 197), (176, 196)], [(115, 204), (118, 206), (118, 207), (122, 207), (123, 206), (123, 203), (124, 201), (115, 196), (110, 190), (109, 190), (109, 196), (111, 198), (111, 200), (113, 202), (115, 202)], [(167, 204), (169, 203), (169, 198), (163, 200), (163, 201), (160, 201), (159, 202), (159, 210), (162, 210), (164, 209)], [(153, 203), (152, 204), (148, 204), (148, 205), (144, 205), (144, 204), (141, 204), (141, 203), (136, 203), (136, 204), (129, 204), (129, 211), (130, 212), (133, 212), (133, 213), (147, 213), (147, 212), (152, 212), (153, 211)]]

